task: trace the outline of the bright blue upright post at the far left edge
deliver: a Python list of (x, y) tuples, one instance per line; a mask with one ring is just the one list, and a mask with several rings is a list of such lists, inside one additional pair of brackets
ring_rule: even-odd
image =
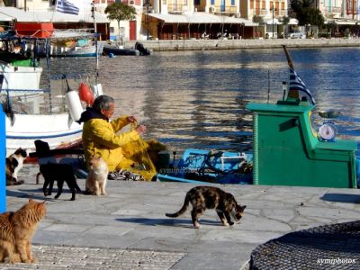
[(5, 179), (5, 158), (6, 158), (6, 130), (5, 113), (0, 105), (0, 213), (6, 211), (6, 179)]

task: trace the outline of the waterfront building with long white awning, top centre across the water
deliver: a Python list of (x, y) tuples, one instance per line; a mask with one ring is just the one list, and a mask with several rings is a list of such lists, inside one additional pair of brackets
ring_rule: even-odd
[(160, 40), (252, 38), (257, 23), (235, 0), (148, 0), (143, 28)]

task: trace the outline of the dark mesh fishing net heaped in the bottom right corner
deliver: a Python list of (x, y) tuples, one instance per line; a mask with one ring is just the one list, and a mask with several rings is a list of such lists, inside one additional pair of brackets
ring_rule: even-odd
[(251, 252), (250, 269), (360, 269), (360, 221), (294, 231)]

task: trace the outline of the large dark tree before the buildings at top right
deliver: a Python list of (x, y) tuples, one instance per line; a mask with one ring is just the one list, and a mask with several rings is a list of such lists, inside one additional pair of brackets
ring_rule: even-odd
[[(292, 0), (293, 12), (296, 14), (300, 25), (317, 25), (324, 24), (324, 17), (320, 10), (313, 8), (314, 0)], [(316, 1), (316, 0), (315, 0)]]

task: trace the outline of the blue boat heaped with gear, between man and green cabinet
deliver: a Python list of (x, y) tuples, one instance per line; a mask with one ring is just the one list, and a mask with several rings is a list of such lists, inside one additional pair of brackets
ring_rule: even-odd
[(252, 184), (252, 154), (188, 148), (174, 165), (160, 169), (158, 182)]

